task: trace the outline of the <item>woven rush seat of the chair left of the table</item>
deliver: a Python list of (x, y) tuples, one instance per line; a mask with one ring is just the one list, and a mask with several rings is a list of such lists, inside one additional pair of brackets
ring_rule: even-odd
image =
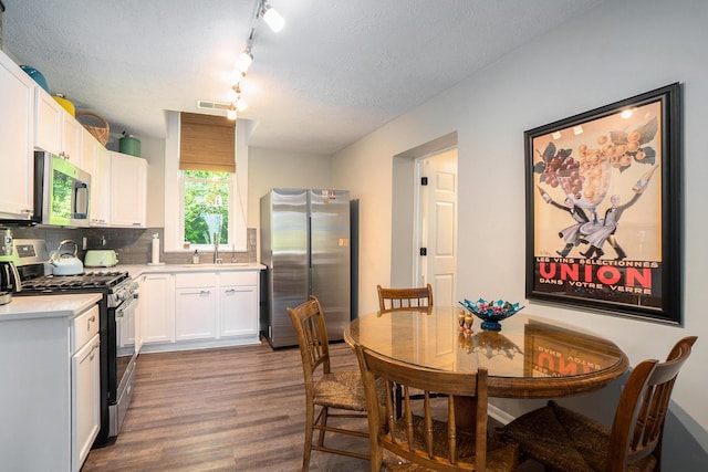
[(314, 385), (314, 403), (345, 410), (366, 411), (366, 397), (358, 370), (324, 374)]

